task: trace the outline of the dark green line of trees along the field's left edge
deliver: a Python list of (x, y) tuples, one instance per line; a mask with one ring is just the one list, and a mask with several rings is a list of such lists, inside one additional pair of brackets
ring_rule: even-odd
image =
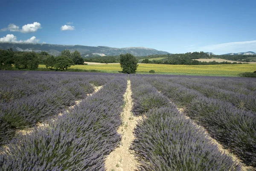
[(12, 48), (0, 49), (0, 70), (17, 69), (36, 70), (39, 64), (45, 64), (51, 70), (66, 70), (71, 65), (84, 64), (80, 52), (64, 50), (61, 55), (54, 57), (47, 52), (14, 52)]

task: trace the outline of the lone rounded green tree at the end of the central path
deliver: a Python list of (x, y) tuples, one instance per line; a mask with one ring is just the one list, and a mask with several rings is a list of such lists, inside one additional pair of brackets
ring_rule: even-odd
[(120, 65), (122, 72), (128, 74), (136, 73), (137, 67), (139, 66), (138, 60), (130, 53), (120, 55)]

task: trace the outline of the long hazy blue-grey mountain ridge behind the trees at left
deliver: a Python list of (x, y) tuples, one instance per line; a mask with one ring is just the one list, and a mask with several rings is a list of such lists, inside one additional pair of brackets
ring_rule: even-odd
[(50, 55), (60, 55), (64, 49), (69, 49), (71, 52), (78, 50), (83, 57), (89, 56), (105, 56), (105, 55), (120, 55), (131, 53), (135, 56), (147, 56), (155, 54), (168, 54), (169, 52), (158, 51), (156, 49), (145, 47), (128, 47), (128, 48), (112, 48), (108, 46), (82, 46), (82, 45), (58, 45), (47, 43), (11, 43), (0, 42), (0, 49), (12, 48), (13, 51), (46, 51)]

